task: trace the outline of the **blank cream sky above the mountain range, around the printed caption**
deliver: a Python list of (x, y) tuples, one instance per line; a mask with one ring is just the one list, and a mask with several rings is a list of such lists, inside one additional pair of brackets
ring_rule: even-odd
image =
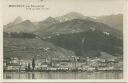
[[(14, 21), (16, 17), (24, 20), (41, 21), (47, 17), (57, 17), (69, 12), (79, 12), (85, 16), (119, 14), (124, 11), (125, 0), (2, 0), (3, 24)], [(44, 5), (41, 10), (26, 10), (26, 7), (9, 5)], [(48, 8), (48, 9), (46, 9)]]

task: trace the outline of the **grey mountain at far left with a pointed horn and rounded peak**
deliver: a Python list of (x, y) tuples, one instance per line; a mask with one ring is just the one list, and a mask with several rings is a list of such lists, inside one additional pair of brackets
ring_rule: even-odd
[(13, 23), (14, 25), (4, 27), (4, 32), (26, 32), (30, 33), (36, 30), (36, 26), (29, 20), (25, 20), (19, 23), (19, 18)]

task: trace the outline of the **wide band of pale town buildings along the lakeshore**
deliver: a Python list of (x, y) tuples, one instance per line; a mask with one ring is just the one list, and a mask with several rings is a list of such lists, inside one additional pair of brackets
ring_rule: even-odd
[[(33, 58), (34, 59), (34, 58)], [(123, 60), (119, 57), (76, 57), (40, 58), (24, 60), (5, 58), (4, 71), (107, 71), (123, 70)], [(34, 63), (34, 68), (33, 68)]]

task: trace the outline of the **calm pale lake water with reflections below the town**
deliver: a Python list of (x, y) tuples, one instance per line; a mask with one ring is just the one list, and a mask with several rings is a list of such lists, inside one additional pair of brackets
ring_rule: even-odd
[(122, 71), (99, 72), (4, 72), (4, 79), (122, 79)]

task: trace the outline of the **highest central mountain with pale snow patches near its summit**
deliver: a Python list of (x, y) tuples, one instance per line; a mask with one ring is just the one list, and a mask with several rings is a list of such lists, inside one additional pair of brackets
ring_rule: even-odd
[(55, 25), (61, 24), (61, 23), (66, 22), (66, 21), (71, 21), (74, 19), (93, 20), (92, 18), (85, 17), (84, 15), (82, 15), (78, 12), (70, 12), (70, 13), (65, 14), (63, 16), (59, 16), (59, 17), (55, 17), (55, 18), (48, 17), (47, 19), (40, 21), (38, 23), (37, 26), (39, 27), (39, 29), (35, 31), (35, 34), (46, 35), (48, 33), (51, 33), (51, 31), (53, 30), (52, 26), (56, 27)]

